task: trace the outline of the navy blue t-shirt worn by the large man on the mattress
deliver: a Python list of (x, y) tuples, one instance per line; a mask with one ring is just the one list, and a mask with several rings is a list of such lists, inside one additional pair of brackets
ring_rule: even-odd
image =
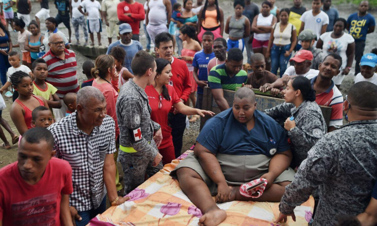
[(250, 131), (238, 122), (232, 108), (209, 119), (197, 141), (213, 154), (265, 155), (290, 150), (284, 129), (271, 117), (254, 111), (255, 125)]

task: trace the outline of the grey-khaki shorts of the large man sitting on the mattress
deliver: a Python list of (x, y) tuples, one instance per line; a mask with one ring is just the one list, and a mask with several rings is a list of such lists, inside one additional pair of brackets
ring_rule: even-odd
[[(270, 157), (265, 155), (225, 155), (217, 154), (217, 160), (220, 163), (221, 170), (224, 174), (228, 185), (240, 186), (244, 183), (260, 178), (263, 174), (268, 172), (268, 165)], [(187, 167), (197, 172), (207, 184), (211, 195), (217, 194), (217, 185), (206, 174), (199, 163), (198, 157), (194, 153), (190, 153), (187, 157), (178, 164), (178, 166), (170, 173), (176, 178), (176, 170)], [(273, 183), (280, 183), (284, 181), (293, 181), (295, 171), (288, 168), (282, 172)]]

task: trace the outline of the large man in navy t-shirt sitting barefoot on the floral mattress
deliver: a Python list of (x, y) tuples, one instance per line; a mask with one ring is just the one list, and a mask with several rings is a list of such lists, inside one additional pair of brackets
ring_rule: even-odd
[[(218, 225), (227, 214), (216, 202), (280, 201), (295, 172), (284, 129), (256, 109), (255, 94), (240, 88), (233, 107), (211, 118), (200, 132), (194, 153), (171, 173), (183, 192), (203, 212), (201, 225)], [(240, 185), (265, 178), (258, 198), (245, 197)]]

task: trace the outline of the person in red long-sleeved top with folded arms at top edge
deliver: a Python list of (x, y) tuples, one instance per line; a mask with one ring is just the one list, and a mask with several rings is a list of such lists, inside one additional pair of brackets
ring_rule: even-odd
[(140, 21), (145, 19), (145, 11), (142, 4), (134, 0), (125, 0), (118, 4), (119, 23), (127, 23), (132, 28), (132, 40), (139, 41)]

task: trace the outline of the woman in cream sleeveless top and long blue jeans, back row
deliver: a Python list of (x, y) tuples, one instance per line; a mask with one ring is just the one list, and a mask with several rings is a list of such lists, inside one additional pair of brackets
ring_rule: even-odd
[(280, 22), (276, 23), (269, 37), (266, 59), (271, 56), (271, 72), (277, 75), (280, 68), (280, 77), (287, 70), (287, 64), (292, 51), (296, 47), (296, 27), (288, 23), (291, 11), (288, 8), (280, 11)]

